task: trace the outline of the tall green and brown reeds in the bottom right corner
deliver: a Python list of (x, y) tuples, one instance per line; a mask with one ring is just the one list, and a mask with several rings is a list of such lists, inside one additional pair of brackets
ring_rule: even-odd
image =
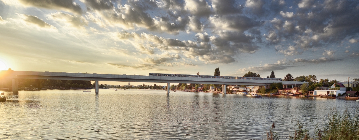
[(304, 123), (294, 122), (293, 134), (289, 136), (274, 132), (273, 123), (267, 131), (267, 140), (359, 140), (359, 110), (349, 113), (347, 109), (341, 114), (336, 108), (332, 108), (321, 126), (318, 123), (314, 125), (314, 134), (310, 134), (311, 131)]

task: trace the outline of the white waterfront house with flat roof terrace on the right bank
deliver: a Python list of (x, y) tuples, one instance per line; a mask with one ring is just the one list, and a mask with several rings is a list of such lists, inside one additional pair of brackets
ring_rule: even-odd
[(316, 87), (313, 91), (313, 96), (320, 95), (336, 95), (344, 94), (346, 92), (346, 87), (335, 87), (335, 84), (331, 87)]

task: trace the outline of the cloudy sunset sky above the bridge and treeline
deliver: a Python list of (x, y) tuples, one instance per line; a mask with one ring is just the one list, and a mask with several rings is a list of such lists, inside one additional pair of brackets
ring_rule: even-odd
[(0, 68), (348, 81), (358, 13), (358, 0), (0, 0)]

